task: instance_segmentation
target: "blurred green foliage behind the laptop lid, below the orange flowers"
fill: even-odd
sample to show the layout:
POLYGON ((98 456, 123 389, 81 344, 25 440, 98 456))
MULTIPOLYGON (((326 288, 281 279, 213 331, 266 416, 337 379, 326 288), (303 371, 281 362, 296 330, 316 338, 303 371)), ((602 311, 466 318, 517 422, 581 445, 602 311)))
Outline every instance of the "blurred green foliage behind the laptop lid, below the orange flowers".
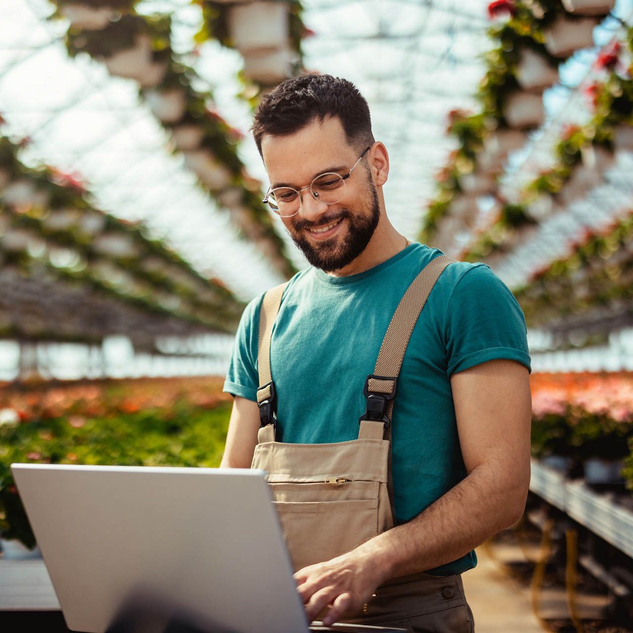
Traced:
POLYGON ((0 529, 8 539, 35 544, 9 470, 11 463, 218 467, 230 402, 206 410, 177 401, 171 410, 76 418, 0 427, 0 529), (74 425, 73 425, 74 424, 74 425))

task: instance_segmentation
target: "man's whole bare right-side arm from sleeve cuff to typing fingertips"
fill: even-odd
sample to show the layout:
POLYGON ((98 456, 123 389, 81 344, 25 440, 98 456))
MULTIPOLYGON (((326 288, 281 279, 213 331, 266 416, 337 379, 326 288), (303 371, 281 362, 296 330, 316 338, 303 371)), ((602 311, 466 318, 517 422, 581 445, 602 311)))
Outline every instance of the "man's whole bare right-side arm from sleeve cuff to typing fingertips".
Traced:
POLYGON ((456 560, 515 523, 530 483, 532 398, 526 367, 498 359, 451 376, 468 475, 410 522, 295 574, 310 618, 326 624, 360 608, 375 588, 456 560))

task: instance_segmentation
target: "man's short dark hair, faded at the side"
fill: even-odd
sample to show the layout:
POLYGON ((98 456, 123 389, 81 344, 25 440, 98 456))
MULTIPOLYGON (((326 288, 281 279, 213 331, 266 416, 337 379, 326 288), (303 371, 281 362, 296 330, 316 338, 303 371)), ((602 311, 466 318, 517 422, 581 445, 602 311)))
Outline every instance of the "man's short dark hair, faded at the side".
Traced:
POLYGON ((373 143, 369 106, 358 88, 332 75, 300 75, 280 83, 261 98, 251 131, 261 154, 265 134, 292 134, 326 116, 338 116, 348 144, 359 151, 373 143))

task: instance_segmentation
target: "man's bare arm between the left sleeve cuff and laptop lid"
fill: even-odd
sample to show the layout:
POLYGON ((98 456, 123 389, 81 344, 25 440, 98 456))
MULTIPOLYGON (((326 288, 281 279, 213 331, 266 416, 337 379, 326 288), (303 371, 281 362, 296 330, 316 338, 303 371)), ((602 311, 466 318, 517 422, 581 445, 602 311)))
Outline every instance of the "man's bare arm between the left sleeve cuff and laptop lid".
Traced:
POLYGON ((257 403, 235 396, 221 468, 251 467, 259 428, 260 410, 257 403))

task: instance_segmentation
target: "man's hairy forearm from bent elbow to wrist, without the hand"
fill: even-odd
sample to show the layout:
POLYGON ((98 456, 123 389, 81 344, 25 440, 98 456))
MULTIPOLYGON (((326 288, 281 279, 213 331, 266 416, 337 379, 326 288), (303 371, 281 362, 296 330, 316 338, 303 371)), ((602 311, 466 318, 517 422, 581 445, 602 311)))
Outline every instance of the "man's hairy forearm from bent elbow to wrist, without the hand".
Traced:
POLYGON ((464 556, 515 523, 527 486, 482 465, 410 522, 382 532, 359 548, 384 569, 385 579, 438 567, 464 556))

